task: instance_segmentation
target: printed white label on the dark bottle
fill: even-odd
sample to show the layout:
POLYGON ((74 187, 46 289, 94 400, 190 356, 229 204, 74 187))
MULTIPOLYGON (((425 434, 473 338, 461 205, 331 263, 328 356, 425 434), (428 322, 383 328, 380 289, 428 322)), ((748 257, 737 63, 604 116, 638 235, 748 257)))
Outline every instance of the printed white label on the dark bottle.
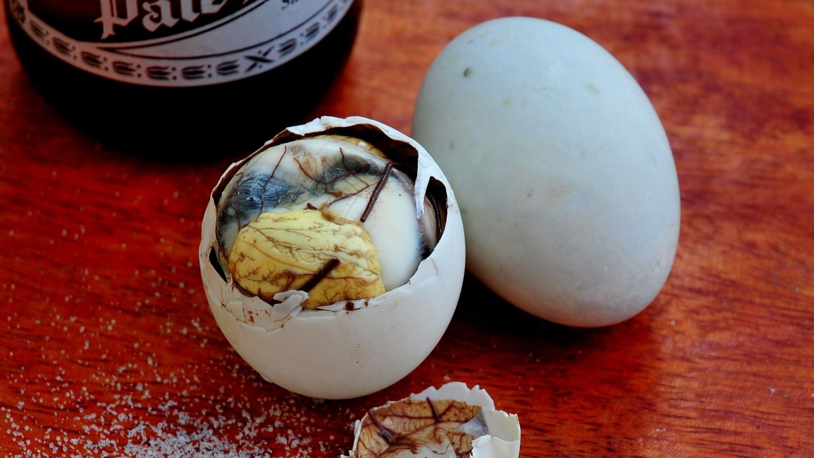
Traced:
POLYGON ((86 72, 144 86, 204 86, 267 72, 322 40, 352 3, 9 1, 20 29, 50 54, 86 72))

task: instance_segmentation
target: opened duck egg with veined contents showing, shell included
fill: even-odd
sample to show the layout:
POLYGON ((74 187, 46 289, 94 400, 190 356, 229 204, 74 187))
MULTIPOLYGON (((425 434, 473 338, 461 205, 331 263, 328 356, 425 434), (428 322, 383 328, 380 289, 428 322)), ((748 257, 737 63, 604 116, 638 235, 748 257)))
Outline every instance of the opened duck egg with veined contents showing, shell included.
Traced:
POLYGON ((400 380, 452 318, 464 270, 447 179, 361 117, 290 127, 230 166, 199 250, 212 314, 262 377, 353 398, 400 380))

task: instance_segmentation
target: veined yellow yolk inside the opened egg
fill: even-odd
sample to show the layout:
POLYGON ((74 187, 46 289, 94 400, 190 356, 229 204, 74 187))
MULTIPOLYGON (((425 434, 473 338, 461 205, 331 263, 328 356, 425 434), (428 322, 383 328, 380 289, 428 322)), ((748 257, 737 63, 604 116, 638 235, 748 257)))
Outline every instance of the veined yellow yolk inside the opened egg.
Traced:
POLYGON ((305 289, 305 309, 385 292, 379 258, 360 222, 320 209, 259 214, 229 255, 232 278, 266 301, 305 289))

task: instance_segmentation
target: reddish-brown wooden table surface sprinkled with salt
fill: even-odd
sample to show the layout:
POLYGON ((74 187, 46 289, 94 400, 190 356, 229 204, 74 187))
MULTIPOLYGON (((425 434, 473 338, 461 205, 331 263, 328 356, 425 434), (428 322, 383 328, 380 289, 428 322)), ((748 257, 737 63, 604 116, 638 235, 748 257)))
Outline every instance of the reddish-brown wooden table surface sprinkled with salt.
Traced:
POLYGON ((105 148, 33 90, 0 28, 2 455, 338 456, 367 408, 464 381, 519 414, 522 456, 814 456, 814 3, 368 0, 312 115, 409 134, 435 55, 505 15, 589 35, 652 99, 681 186, 672 274, 597 329, 467 279, 429 358, 347 401, 262 381, 209 313, 200 221, 247 151, 167 164, 105 148))

